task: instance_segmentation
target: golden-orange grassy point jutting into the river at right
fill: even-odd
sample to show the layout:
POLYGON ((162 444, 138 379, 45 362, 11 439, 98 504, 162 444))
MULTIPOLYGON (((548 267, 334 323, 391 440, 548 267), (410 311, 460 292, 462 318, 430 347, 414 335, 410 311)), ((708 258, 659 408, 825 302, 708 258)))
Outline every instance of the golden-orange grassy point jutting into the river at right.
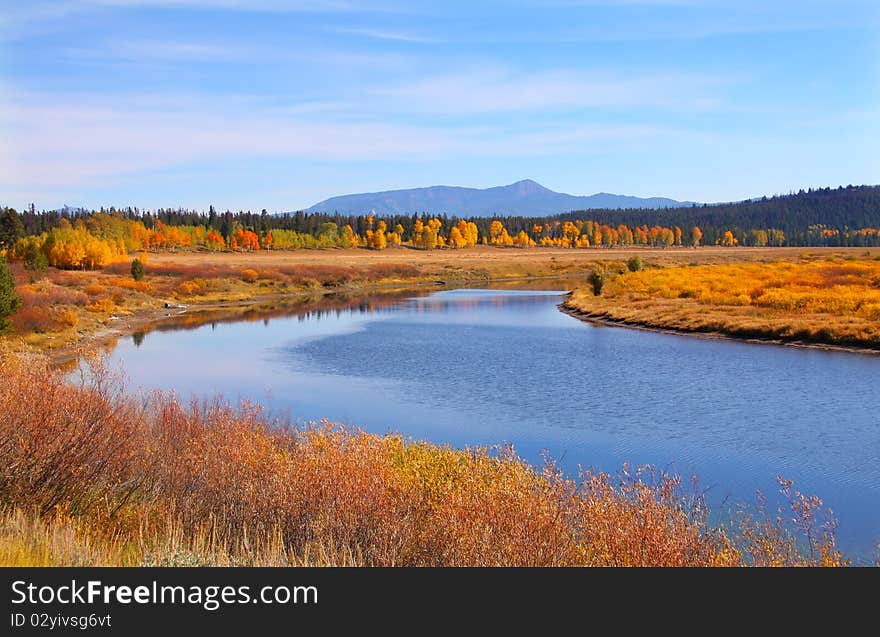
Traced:
POLYGON ((685 332, 880 348, 880 260, 668 267, 614 276, 602 294, 576 290, 588 317, 685 332))

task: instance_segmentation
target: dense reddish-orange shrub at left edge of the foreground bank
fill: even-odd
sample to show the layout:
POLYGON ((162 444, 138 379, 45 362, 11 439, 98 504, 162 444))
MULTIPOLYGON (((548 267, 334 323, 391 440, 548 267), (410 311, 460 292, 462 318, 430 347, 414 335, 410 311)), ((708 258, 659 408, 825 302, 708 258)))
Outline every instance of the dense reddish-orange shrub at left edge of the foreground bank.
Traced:
POLYGON ((85 513, 124 494, 122 485, 133 479, 139 459, 138 420, 119 399, 118 385, 67 385, 43 361, 5 352, 0 376, 3 504, 21 503, 44 514, 58 508, 85 513), (16 444, 8 444, 12 440, 16 444))

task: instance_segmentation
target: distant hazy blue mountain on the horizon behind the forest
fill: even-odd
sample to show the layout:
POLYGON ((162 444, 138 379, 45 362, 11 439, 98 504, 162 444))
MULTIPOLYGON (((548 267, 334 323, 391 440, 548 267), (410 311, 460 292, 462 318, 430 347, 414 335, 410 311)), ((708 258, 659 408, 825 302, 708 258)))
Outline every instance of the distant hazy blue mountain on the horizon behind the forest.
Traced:
POLYGON ((509 186, 494 188, 461 188, 458 186, 431 186, 408 190, 386 190, 358 195, 341 195, 325 199, 305 212, 340 214, 429 214, 446 213, 457 216, 548 215, 569 210, 591 208, 679 208, 690 206, 689 201, 675 201, 664 197, 629 197, 600 192, 579 196, 554 192, 536 181, 523 179, 509 186))

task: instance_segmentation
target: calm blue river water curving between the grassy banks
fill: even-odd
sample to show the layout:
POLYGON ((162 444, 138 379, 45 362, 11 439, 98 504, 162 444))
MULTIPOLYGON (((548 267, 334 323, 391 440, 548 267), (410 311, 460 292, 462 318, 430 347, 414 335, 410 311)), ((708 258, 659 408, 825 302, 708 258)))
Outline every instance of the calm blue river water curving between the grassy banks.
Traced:
POLYGON ((112 356, 139 387, 456 446, 506 441, 570 470, 649 463, 696 473, 716 502, 774 493, 781 474, 834 509, 849 555, 873 555, 880 357, 594 327, 559 312, 560 295, 443 291, 152 332, 112 356))

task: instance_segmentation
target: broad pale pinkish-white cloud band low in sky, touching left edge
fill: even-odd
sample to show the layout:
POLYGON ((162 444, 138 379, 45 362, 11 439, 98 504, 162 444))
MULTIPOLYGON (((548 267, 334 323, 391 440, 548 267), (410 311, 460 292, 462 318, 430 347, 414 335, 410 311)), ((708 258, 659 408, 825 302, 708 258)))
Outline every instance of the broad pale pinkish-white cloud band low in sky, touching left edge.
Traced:
POLYGON ((140 105, 76 99, 52 105, 44 96, 21 96, 0 108, 7 154, 0 184, 18 188, 72 188, 232 157, 322 160, 435 160, 458 156, 540 155, 585 141, 621 143, 678 134, 645 125, 440 128, 381 121, 339 123, 318 114, 279 116, 258 100, 227 104, 180 99, 140 105), (12 149, 12 150, 10 150, 12 149))

